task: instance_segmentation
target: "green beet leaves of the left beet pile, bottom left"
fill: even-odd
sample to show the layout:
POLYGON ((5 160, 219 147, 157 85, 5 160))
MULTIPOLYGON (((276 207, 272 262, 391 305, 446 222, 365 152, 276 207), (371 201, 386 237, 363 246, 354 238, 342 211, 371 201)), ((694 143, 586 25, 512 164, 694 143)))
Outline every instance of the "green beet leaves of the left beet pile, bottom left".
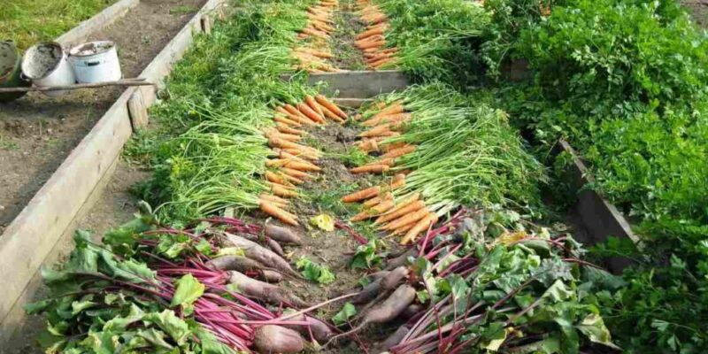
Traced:
MULTIPOLYGON (((30 314, 46 315, 39 342, 47 352, 235 353, 193 319, 166 309, 158 296, 146 296, 159 291, 148 266, 90 242, 86 232, 77 232, 74 242, 61 269, 42 269, 49 297, 26 306, 30 314)), ((176 285, 172 305, 189 315, 184 310, 202 295, 204 285, 191 275, 176 285)))

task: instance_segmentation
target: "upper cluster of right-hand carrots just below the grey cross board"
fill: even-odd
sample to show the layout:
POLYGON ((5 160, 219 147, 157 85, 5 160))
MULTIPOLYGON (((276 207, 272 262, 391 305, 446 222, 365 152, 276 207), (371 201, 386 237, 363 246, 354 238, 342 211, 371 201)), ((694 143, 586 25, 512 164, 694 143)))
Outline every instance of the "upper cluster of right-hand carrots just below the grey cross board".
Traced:
POLYGON ((375 106, 380 111, 370 119, 361 122, 368 130, 359 134, 361 140, 358 149, 366 153, 381 151, 383 155, 372 163, 354 167, 351 173, 387 173, 396 165, 396 159, 415 151, 415 145, 405 142, 388 143, 379 146, 379 142, 401 135, 400 130, 411 119, 411 113, 405 112, 404 104, 400 101, 391 104, 380 103, 375 106))

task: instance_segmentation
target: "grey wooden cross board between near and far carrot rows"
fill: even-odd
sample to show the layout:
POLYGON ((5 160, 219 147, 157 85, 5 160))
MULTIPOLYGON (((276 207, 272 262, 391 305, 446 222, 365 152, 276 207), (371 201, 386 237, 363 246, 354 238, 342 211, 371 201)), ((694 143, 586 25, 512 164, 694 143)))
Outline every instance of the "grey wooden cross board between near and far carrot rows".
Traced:
POLYGON ((321 92, 327 96, 345 98, 372 98, 404 90, 409 84, 404 73, 397 70, 311 73, 308 82, 312 86, 323 85, 321 92))

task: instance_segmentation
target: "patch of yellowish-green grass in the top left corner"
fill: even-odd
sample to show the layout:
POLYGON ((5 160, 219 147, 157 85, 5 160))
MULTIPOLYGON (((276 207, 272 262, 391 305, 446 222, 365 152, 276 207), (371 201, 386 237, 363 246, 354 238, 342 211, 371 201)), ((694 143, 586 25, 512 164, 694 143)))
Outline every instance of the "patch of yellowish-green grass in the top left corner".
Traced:
POLYGON ((50 41, 117 0, 0 0, 0 39, 20 50, 50 41))

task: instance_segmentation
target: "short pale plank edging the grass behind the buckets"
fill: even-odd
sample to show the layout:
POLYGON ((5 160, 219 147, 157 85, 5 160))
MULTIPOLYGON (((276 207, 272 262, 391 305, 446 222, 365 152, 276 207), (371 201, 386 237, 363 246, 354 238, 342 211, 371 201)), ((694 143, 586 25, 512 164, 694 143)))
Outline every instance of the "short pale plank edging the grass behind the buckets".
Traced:
POLYGON ((64 35, 60 35, 56 41, 65 47, 86 41, 94 32, 111 25, 138 4, 140 4, 140 0, 120 0, 116 4, 106 7, 102 12, 98 12, 92 18, 81 22, 64 35))

